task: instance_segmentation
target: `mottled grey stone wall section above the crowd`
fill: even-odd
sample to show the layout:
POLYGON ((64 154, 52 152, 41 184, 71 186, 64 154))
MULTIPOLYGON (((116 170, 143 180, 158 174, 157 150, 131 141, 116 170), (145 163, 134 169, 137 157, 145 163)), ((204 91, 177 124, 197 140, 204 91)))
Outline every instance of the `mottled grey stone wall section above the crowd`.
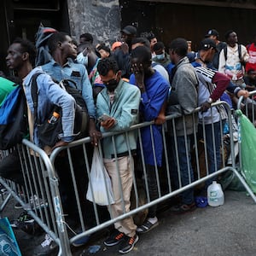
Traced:
POLYGON ((104 42, 112 44, 120 37, 119 0, 67 0, 70 31, 73 38, 90 32, 94 44, 104 42))

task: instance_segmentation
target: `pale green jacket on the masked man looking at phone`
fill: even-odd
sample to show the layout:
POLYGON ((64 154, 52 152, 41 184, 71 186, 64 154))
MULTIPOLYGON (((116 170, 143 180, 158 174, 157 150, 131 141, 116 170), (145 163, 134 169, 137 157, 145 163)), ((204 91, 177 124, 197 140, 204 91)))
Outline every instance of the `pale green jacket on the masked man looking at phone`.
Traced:
MULTIPOLYGON (((96 116, 101 117, 103 113, 116 119, 116 124, 108 131, 126 131, 138 123, 139 104, 141 93, 137 86, 126 83, 120 79, 117 88, 114 90, 113 104, 110 104, 107 88, 104 88, 96 99, 96 116)), ((101 127, 102 132, 106 132, 101 127)), ((112 137, 104 137, 103 154, 104 158, 114 158, 114 150, 118 156, 128 155, 128 149, 137 148, 137 131, 129 131, 115 135, 114 144, 112 137)))

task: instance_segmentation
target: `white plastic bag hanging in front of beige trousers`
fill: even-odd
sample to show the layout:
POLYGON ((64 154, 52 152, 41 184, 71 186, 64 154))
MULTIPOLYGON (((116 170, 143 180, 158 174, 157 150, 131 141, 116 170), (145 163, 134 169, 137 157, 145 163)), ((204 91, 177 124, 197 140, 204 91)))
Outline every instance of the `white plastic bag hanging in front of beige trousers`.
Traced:
POLYGON ((86 198, 89 201, 95 201, 100 206, 108 206, 114 203, 111 179, 102 163, 99 149, 96 147, 92 157, 86 198))

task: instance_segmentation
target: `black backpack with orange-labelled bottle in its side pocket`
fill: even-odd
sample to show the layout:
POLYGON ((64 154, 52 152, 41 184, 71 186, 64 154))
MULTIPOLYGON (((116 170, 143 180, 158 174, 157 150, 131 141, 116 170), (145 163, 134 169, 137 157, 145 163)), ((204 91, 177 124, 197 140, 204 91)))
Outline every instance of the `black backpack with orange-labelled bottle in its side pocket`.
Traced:
MULTIPOLYGON (((58 135, 62 133, 62 125, 61 125, 61 108, 58 106, 54 106, 51 113, 49 114, 49 118, 44 122, 44 124, 40 124, 38 122, 38 84, 37 78, 42 73, 35 73, 32 76, 32 101, 34 106, 34 122, 35 125, 38 126, 38 138, 41 143, 41 146, 48 145, 53 147, 55 143, 58 142, 58 135), (60 118, 56 119, 55 122, 50 123, 49 119, 53 116, 53 113, 56 112, 60 115, 60 118)), ((61 80, 59 83, 61 88, 67 90, 67 92, 73 96, 76 101, 76 110, 75 110, 75 120, 74 120, 74 134, 77 134, 76 139, 81 137, 86 137, 88 133, 88 122, 89 116, 86 107, 86 103, 84 102, 84 98, 81 94, 81 91, 76 87, 76 83, 72 80, 61 80), (70 84, 73 84, 71 86, 70 84)))

